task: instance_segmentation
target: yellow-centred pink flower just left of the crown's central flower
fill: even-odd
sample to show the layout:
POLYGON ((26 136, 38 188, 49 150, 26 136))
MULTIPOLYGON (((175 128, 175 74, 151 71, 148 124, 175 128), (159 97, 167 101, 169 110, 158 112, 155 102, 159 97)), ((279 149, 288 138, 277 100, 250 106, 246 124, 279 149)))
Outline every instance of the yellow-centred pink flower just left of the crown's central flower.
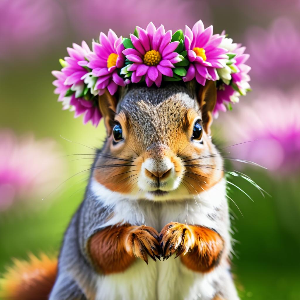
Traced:
POLYGON ((99 41, 100 44, 93 42, 93 52, 86 56, 89 60, 88 67, 92 69, 93 76, 99 77, 95 85, 99 95, 104 93, 105 88, 113 95, 118 85, 125 86, 129 82, 122 79, 117 72, 117 68, 122 68, 125 62, 122 36, 118 38, 110 29, 107 36, 100 33, 99 41))

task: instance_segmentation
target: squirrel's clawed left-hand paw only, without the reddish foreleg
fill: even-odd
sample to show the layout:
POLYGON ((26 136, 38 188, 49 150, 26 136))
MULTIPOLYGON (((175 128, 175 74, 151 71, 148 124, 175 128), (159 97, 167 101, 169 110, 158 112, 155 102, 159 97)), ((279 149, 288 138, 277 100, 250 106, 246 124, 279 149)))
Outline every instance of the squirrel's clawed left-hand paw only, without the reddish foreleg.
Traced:
POLYGON ((155 257, 160 260, 158 232, 149 226, 134 226, 134 228, 128 233, 126 249, 128 253, 143 259, 147 264, 147 254, 154 261, 156 261, 155 257))

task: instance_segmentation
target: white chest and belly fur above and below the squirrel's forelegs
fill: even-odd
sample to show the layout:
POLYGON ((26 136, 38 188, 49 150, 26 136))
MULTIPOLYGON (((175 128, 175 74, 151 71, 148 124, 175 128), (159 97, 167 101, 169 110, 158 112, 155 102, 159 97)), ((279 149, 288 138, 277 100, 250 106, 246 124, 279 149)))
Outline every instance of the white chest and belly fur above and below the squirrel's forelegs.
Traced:
MULTIPOLYGON (((167 203, 123 199, 122 195, 112 194, 97 182, 92 183, 92 189, 96 195, 101 195, 101 199, 105 199, 105 205, 115 205, 114 217, 103 226, 120 222, 146 224, 160 232, 172 221, 197 224, 219 232, 225 241, 226 251, 230 251, 225 181, 219 182, 193 200, 167 203), (226 211, 217 221, 209 217, 216 214, 216 208, 218 211, 226 211)), ((123 273, 98 276, 96 300, 208 300, 212 299, 215 293, 214 281, 218 281, 223 272, 224 266, 220 265, 208 274, 196 273, 188 270, 180 258, 174 259, 174 256, 161 262, 150 259, 148 265, 137 259, 123 273)))

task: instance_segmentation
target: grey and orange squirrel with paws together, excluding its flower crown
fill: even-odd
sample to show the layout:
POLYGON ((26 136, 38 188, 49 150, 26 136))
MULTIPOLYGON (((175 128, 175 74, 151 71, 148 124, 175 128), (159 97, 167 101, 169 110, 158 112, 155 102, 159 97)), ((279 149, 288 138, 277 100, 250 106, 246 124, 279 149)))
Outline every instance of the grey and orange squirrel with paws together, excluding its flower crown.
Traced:
POLYGON ((210 80, 99 96, 107 138, 58 271, 36 279, 47 292, 23 281, 10 299, 238 300, 223 160, 210 136, 215 102, 210 80))

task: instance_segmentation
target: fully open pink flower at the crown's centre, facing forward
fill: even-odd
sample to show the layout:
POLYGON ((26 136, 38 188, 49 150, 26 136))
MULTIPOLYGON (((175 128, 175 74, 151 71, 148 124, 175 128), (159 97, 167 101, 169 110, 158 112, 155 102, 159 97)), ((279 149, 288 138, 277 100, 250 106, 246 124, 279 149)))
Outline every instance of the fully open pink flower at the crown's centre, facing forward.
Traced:
POLYGON ((162 75, 173 77, 173 64, 181 61, 179 54, 174 52, 179 45, 178 41, 171 42, 171 30, 165 32, 161 25, 156 29, 150 22, 145 29, 137 27, 139 37, 130 35, 134 48, 123 50, 123 54, 129 61, 132 61, 127 70, 133 71, 131 81, 140 82, 145 76, 147 86, 153 82, 159 87, 161 85, 162 75))

